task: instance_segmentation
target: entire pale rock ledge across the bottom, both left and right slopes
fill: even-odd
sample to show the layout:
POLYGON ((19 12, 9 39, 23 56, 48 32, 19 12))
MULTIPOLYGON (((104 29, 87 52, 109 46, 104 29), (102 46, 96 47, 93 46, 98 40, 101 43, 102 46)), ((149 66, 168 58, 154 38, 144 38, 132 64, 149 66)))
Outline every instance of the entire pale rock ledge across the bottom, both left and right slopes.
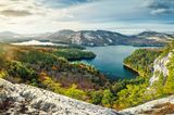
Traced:
POLYGON ((0 78, 0 115, 165 115, 174 114, 174 95, 120 112, 0 78))

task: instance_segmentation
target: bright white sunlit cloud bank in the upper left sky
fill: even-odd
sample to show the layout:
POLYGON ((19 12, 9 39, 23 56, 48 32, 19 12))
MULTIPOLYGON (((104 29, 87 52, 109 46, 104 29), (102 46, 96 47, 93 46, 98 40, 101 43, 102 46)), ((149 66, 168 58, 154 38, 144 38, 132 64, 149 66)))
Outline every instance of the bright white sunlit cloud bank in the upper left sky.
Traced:
POLYGON ((79 26, 77 22, 62 22, 63 18, 73 17, 66 9, 46 8, 36 0, 3 0, 0 4, 1 30, 41 33, 79 26))

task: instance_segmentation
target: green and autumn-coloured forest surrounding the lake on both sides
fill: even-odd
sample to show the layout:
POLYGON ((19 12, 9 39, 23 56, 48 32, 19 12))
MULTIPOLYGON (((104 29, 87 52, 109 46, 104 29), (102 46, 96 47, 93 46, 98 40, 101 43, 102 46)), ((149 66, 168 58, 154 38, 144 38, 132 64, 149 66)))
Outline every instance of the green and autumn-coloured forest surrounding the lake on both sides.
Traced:
MULTIPOLYGON (((169 64, 170 77, 165 87, 157 93, 146 93, 153 61, 166 54, 165 49, 139 49, 125 59, 124 64, 136 69, 135 79, 110 81, 105 75, 91 65, 69 60, 94 56, 78 48, 14 47, 0 44, 0 78, 11 82, 27 84, 70 98, 97 105, 122 110, 174 92, 173 63, 169 64)), ((173 59, 171 60, 172 62, 173 59)), ((163 81, 163 80, 160 80, 163 81)))

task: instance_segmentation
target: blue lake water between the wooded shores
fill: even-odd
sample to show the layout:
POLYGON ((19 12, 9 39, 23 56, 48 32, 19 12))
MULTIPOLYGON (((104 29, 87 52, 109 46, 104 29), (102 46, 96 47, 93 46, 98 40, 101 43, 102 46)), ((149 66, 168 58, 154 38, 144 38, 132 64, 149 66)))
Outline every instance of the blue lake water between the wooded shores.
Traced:
POLYGON ((96 59, 84 61, 100 69, 108 75, 110 79, 135 78, 137 74, 123 66, 123 60, 132 54, 138 47, 130 46, 109 46, 87 48, 97 54, 96 59))

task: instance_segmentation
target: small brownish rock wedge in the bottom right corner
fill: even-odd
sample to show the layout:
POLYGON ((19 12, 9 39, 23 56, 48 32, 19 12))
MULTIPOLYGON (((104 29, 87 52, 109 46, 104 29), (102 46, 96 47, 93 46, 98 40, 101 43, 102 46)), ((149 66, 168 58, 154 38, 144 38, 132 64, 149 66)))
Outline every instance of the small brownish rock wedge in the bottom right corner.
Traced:
POLYGON ((166 115, 174 114, 174 95, 153 100, 145 104, 126 108, 120 112, 122 115, 166 115))

